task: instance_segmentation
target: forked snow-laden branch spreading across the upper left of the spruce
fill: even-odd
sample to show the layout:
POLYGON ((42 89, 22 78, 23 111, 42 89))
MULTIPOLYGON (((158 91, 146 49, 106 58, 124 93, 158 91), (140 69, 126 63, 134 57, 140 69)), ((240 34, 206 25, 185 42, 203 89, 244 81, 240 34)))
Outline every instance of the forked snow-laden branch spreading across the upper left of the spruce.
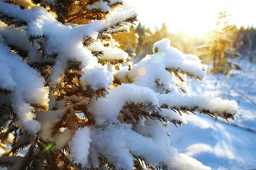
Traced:
MULTIPOLYGON (((93 20, 89 24, 74 28, 63 26, 55 20, 52 14, 42 7, 20 10, 18 6, 0 3, 0 14, 8 15, 15 21, 26 22, 27 36, 30 37, 30 40, 33 40, 33 37, 35 39, 42 36, 46 37, 46 42, 44 42, 41 49, 46 56, 54 56, 50 82, 52 87, 56 83, 61 82, 61 77, 68 66, 67 63, 75 61, 81 62, 79 67, 84 73, 81 80, 85 82, 86 86, 93 88, 93 90, 108 88, 112 83, 113 77, 105 67, 98 64, 96 57, 83 46, 82 42, 89 38, 96 40, 99 35, 108 30, 111 31, 121 27, 122 24, 136 20, 136 13, 132 8, 121 7, 111 11, 105 20, 93 20), (118 15, 118 13, 122 13, 122 15, 118 15), (99 77, 99 79, 87 79, 90 76, 99 77)), ((41 61, 41 58, 35 57, 30 57, 30 62, 37 62, 39 64, 40 62, 50 60, 47 58, 41 61)), ((123 59, 126 57, 123 57, 123 59)))

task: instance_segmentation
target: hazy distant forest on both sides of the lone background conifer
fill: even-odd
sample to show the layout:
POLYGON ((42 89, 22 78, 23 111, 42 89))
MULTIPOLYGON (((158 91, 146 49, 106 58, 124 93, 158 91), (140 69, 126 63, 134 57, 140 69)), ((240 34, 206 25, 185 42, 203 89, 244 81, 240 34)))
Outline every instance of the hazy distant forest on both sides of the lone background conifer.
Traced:
MULTIPOLYGON (((233 47, 249 58, 256 58, 256 28, 236 28, 233 32, 233 47)), ((152 54, 154 42, 169 38, 171 45, 183 51, 185 54, 199 55, 198 46, 207 44, 207 37, 189 36, 183 33, 170 33, 165 23, 162 28, 155 27, 154 32, 145 28, 141 23, 137 27, 131 26, 130 32, 123 32, 114 35, 113 38, 119 42, 120 48, 125 50, 130 56, 136 54, 137 60, 145 57, 146 54, 152 54), (133 54, 132 54, 133 53, 133 54)))

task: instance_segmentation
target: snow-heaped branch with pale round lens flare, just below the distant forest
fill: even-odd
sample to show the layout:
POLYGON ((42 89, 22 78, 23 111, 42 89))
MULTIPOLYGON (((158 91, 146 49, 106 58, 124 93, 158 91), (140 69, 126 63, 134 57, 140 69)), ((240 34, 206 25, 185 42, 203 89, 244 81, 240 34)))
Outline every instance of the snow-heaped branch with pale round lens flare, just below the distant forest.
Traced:
POLYGON ((133 82, 136 85, 169 93, 170 91, 187 91, 186 77, 202 80, 206 76, 207 65, 192 54, 183 54, 170 46, 169 39, 154 44, 154 54, 147 55, 139 63, 122 68, 114 74, 120 83, 133 82), (170 74, 171 73, 171 74, 170 74))

